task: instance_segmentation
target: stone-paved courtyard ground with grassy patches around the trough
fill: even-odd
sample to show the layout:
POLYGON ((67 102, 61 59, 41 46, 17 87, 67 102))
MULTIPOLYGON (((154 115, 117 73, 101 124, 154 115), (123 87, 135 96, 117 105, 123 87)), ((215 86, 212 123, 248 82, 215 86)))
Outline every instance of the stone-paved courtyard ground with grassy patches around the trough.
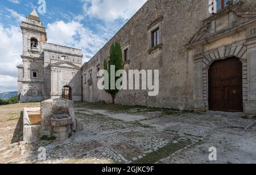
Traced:
POLYGON ((40 104, 0 106, 0 163, 256 163, 255 117, 76 103, 82 132, 26 143, 20 111, 31 106, 40 104), (210 147, 217 161, 209 161, 210 147))

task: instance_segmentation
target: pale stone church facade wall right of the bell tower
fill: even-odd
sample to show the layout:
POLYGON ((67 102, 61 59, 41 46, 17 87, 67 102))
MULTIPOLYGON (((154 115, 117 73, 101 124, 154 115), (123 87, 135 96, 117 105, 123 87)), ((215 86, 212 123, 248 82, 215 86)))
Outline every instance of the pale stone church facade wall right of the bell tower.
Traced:
POLYGON ((45 43, 43 48, 46 97, 59 98, 63 87, 69 86, 72 89, 72 100, 82 101, 82 51, 49 43, 45 43))

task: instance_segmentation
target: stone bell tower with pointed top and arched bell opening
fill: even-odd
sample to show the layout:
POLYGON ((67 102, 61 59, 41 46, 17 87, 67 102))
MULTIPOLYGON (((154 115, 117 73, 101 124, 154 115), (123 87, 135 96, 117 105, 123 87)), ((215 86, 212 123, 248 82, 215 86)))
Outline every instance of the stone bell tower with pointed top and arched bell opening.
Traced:
POLYGON ((33 10, 22 22, 23 64, 18 68, 18 93, 20 102, 42 101, 44 94, 43 44, 47 41, 46 29, 33 10))

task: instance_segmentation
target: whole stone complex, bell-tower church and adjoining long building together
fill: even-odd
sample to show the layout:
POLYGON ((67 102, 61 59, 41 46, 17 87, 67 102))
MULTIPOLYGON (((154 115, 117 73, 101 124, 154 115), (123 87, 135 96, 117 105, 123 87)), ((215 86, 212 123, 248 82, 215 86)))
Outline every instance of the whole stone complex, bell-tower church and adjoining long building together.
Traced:
POLYGON ((159 70, 159 93, 121 90, 115 103, 256 114, 255 0, 148 0, 84 65, 81 50, 46 42, 35 12, 21 28, 22 102, 64 97, 112 103, 98 89, 97 74, 119 42, 126 71, 159 70))

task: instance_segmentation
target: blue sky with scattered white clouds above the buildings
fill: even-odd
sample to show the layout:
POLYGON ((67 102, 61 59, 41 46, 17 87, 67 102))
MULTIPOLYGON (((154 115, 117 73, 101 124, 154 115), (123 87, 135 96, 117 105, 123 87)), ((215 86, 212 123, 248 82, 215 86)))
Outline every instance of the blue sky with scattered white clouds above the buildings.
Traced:
MULTIPOLYGON (((147 0, 46 0, 39 14, 47 42, 82 49, 88 61, 147 0)), ((16 65, 22 63, 20 23, 39 0, 0 2, 0 93, 17 90, 16 65)))

